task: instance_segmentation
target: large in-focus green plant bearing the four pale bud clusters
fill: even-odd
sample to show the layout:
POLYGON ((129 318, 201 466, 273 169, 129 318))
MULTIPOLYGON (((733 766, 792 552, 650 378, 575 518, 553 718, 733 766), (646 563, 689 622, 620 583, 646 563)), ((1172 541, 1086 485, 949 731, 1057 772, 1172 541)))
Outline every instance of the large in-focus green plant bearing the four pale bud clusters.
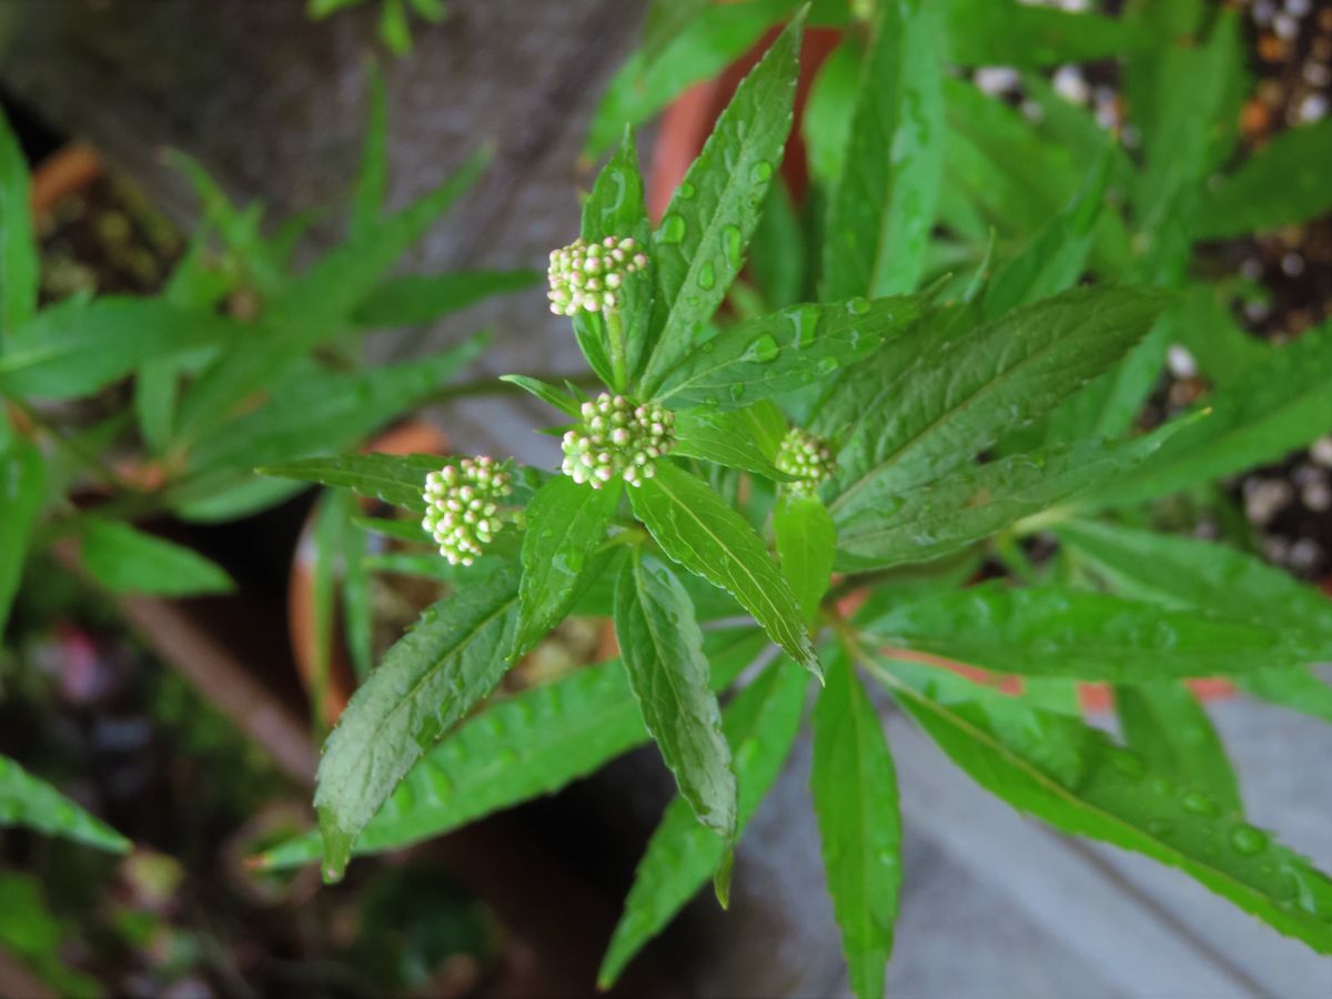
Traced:
MULTIPOLYGON (((691 7, 685 32, 759 11, 766 25, 795 4, 691 7)), ((1042 63, 1070 48, 1080 57, 1151 49, 1166 61, 1208 51, 1166 55, 1142 21, 996 7, 1034 43, 1010 55, 1042 63)), ((655 9, 669 17, 669 5, 655 9)), ((470 530, 485 519, 486 535, 466 535, 480 542, 466 550, 473 565, 422 569, 453 581, 452 594, 388 651, 329 737, 318 834, 266 852, 266 864, 322 856, 333 880, 353 852, 554 791, 650 739, 679 798, 611 939, 610 983, 710 876, 725 904, 734 843, 813 693, 829 888, 854 988, 879 995, 900 821, 867 678, 1015 807, 1180 867, 1332 952, 1332 880, 1245 821, 1220 742, 1183 685, 1228 677, 1332 719, 1328 687, 1308 670, 1328 654, 1332 611, 1243 551, 1142 529, 1155 515, 1146 501, 1205 489, 1327 430, 1332 329, 1256 352, 1207 406, 1139 433, 1131 417, 1159 353, 1143 345, 1168 342, 1163 324, 1189 321, 1191 296, 1162 277, 1188 262, 1180 216, 1136 202, 1130 238, 1104 205, 1107 178, 1124 165, 1099 133, 1086 143, 1086 170, 1047 170, 1048 147, 1011 129, 1007 111, 958 96, 942 72, 950 52, 978 59, 980 48, 988 59, 987 44, 1012 43, 972 32, 976 4, 876 11, 850 116, 836 148, 823 148, 834 165, 815 198, 826 205, 817 254, 799 240, 765 241, 783 210, 773 181, 802 12, 741 84, 655 228, 625 135, 583 206, 579 241, 551 254, 553 310, 571 317, 605 392, 509 377, 562 414, 551 430, 562 437, 559 474, 507 464, 481 484, 454 458, 377 454, 266 469, 401 507, 393 534, 422 553, 441 541, 429 537, 441 523, 470 530), (954 99, 970 101, 966 123, 950 117, 954 99), (959 201, 956 174, 939 165, 952 163, 944 145, 964 125, 1002 132, 992 152, 1007 151, 1008 173, 1031 170, 1035 184, 1004 186, 1022 177, 986 157, 959 201), (1055 213, 1048 224, 1018 218, 1011 229, 1023 238, 987 237, 972 276, 930 282, 931 261, 963 228, 950 218, 1038 197, 1042 218, 1055 213), (597 244, 622 256, 589 266, 597 244), (783 249, 805 264, 777 261, 783 249), (817 301, 754 308, 777 296, 733 286, 749 250, 757 280, 794 272, 790 285, 817 289, 817 301), (1084 274, 1099 280, 1074 286, 1084 274), (734 308, 719 313, 729 289, 734 308), (1047 551, 1035 553, 1038 538, 1047 551), (1008 578, 972 585, 987 558, 1008 578), (619 658, 490 698, 567 614, 614 618, 619 658), (1023 690, 1002 694, 958 665, 1015 674, 1023 690), (1075 681, 1115 685, 1123 741, 1082 721, 1075 681)), ((1196 176, 1167 172, 1164 204, 1189 202, 1196 176)), ((453 534, 442 541, 457 554, 453 534)))

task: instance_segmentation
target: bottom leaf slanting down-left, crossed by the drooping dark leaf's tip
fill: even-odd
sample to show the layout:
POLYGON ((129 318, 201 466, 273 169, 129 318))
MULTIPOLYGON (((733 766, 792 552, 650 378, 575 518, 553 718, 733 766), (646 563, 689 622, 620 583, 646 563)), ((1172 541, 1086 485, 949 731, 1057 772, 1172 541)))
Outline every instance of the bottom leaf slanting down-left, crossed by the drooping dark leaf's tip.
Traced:
MULTIPOLYGON (((806 686, 807 677, 781 659, 737 694, 723 713, 726 739, 735 759, 739 830, 777 781, 791 751, 806 686)), ((599 987, 610 987, 642 946, 698 892, 722 862, 726 847, 722 836, 698 825, 683 798, 671 802, 634 874, 625 914, 597 975, 599 987)))

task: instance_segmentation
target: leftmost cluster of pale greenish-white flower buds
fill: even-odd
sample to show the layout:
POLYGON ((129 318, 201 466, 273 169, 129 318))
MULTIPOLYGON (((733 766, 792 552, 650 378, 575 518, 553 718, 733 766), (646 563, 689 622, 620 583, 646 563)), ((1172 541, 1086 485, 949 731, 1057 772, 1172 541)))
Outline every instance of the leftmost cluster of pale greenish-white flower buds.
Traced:
POLYGON ((498 501, 513 480, 494 458, 464 458, 425 477, 425 519, 450 565, 472 565, 503 527, 498 501))

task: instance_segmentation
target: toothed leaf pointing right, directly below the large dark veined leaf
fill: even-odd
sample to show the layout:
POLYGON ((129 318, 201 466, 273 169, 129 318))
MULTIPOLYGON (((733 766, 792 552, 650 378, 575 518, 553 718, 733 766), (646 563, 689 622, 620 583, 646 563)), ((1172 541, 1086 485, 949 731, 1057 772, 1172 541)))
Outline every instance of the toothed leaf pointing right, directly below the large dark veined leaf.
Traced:
POLYGON ((1163 440, 1166 434, 1158 430, 1122 445, 1083 441, 1012 454, 886 497, 878 507, 850 517, 834 511, 838 567, 928 562, 1094 488, 1099 497, 1163 440))

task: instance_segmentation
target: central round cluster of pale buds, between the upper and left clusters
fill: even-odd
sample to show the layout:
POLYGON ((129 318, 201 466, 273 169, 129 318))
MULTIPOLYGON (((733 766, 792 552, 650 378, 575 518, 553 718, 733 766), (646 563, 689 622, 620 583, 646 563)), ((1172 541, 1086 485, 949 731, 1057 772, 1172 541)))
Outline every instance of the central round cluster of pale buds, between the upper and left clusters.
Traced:
POLYGON ((602 393, 582 404, 582 418, 578 430, 565 434, 562 472, 593 489, 615 476, 641 486, 657 474, 654 461, 675 445, 675 414, 662 406, 602 393))

